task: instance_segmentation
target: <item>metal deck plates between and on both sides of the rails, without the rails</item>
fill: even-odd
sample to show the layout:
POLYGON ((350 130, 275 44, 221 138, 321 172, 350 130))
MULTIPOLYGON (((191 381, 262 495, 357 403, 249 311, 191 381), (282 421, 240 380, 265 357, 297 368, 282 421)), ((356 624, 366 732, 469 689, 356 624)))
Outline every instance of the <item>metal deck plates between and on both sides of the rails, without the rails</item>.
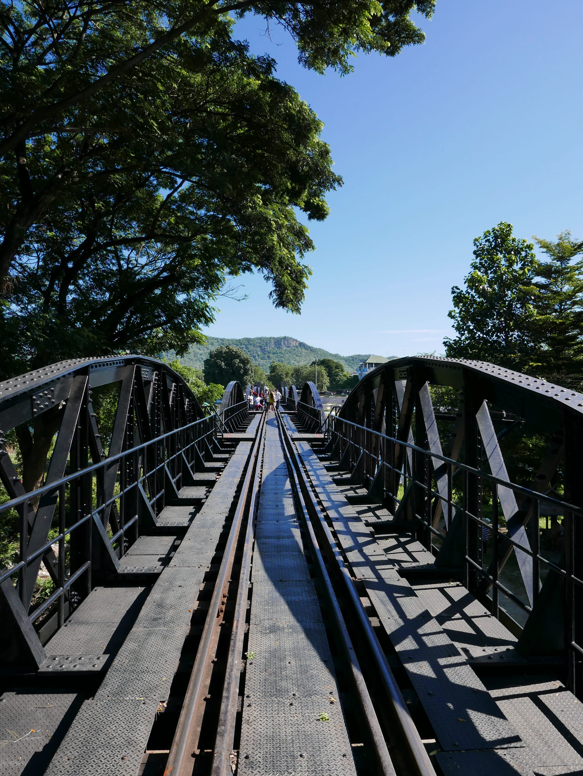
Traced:
MULTIPOLYGON (((228 459, 216 456, 182 487, 158 527, 122 557, 117 577, 95 587, 50 639, 40 670, 11 675, 0 697, 0 776, 163 772, 172 735, 161 745, 156 720, 172 719, 166 704, 184 695, 185 645, 192 657, 260 419, 245 435, 224 435, 228 459), (156 770, 147 753, 161 746, 156 770)), ((382 505, 363 503, 363 488, 311 447, 319 439, 307 440, 289 415, 283 422, 411 713, 430 731, 436 773, 583 773, 583 709, 553 663, 526 660, 462 584, 432 577, 432 554, 391 531, 382 505)), ((237 773, 367 774, 352 749, 353 711, 338 694, 338 650, 273 416, 261 467, 237 773)))

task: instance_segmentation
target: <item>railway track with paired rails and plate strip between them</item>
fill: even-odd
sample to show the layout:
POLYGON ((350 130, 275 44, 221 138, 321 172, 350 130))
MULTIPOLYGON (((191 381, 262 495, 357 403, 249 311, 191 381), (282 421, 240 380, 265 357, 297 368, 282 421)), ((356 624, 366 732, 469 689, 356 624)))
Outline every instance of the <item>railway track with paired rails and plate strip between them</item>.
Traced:
MULTIPOLYGON (((269 528, 274 527, 275 524, 269 525, 269 528)), ((277 542, 276 536, 268 539, 277 542)), ((279 547, 279 550, 284 549, 289 548, 279 547)), ((293 617, 293 614, 288 608, 288 616, 293 617)), ((296 636, 292 632, 291 641, 296 636)), ((304 639, 305 643, 302 643, 302 639, 295 639, 297 652, 294 657, 300 663, 300 671, 314 669, 310 665, 313 655, 310 654, 312 645, 309 640, 304 639)), ((317 637, 312 637, 312 641, 316 640, 317 637)), ((289 645, 284 645, 284 650, 286 646, 289 645)), ((324 657, 326 661, 330 659, 324 657)), ((337 750, 340 755, 334 771, 330 772, 435 776, 349 568, 321 514, 290 431, 279 414, 262 415, 224 543, 186 691, 182 697, 176 694, 168 698, 165 709, 154 722, 151 740, 156 740, 158 736, 157 726, 163 728, 165 725, 167 709, 178 706, 179 714, 177 717, 174 714, 176 724, 172 744, 168 751, 147 751, 141 767, 142 776, 154 773, 165 776, 320 773, 324 772, 321 767, 325 767, 321 761, 322 734, 329 739, 324 747, 325 757, 329 757, 328 750, 331 749, 337 750), (270 463, 274 458, 278 464, 276 468, 283 463, 285 474, 283 469, 279 469, 277 475, 272 476, 270 463), (279 481, 290 487, 279 488, 279 481), (274 482, 278 488, 275 493, 272 492, 274 482), (262 518, 262 515, 266 511, 279 514, 282 506, 279 502, 283 501, 290 509, 285 521, 276 518, 276 524, 283 526, 279 536, 285 544, 289 538, 286 527, 292 525, 292 533, 302 543, 301 548, 297 548, 300 552, 282 551, 277 569, 269 565, 265 569, 271 553, 269 542, 262 541, 262 525, 273 521, 262 518), (256 536, 258 525, 259 539, 256 536), (288 625, 287 629, 283 626, 279 633, 276 629, 262 632, 261 623, 253 616, 255 600, 261 597, 264 588, 272 587, 272 580, 277 577, 275 588, 279 601, 273 611, 267 611, 267 615, 281 613, 280 605, 286 603, 283 601, 285 594, 294 586, 294 580, 286 582, 286 577, 297 577, 297 570, 292 569, 290 574, 290 567, 300 559, 300 553, 302 559, 308 561, 308 576, 305 580, 295 580, 295 584, 313 589, 320 617, 314 618, 312 612, 308 612, 302 618, 296 612, 296 622, 288 625), (267 587, 262 587, 258 568, 263 577, 265 570, 267 576, 272 577, 267 587), (250 736, 249 728, 253 722, 250 725, 245 719, 248 709, 253 708, 249 699, 266 706, 279 702, 280 708, 290 709, 301 705, 301 696, 311 691, 305 687, 295 687, 294 691, 293 682, 297 675, 290 672, 286 676, 286 671, 282 670, 286 661, 278 663, 276 659, 275 663, 273 660, 269 663, 268 659, 269 667, 265 669, 269 674, 268 681, 259 682, 263 684, 265 697, 256 697, 257 687, 254 685, 257 681, 250 674, 254 665, 262 661, 259 650, 268 648, 268 642, 273 639, 278 644, 279 639, 290 637, 290 631, 297 623, 304 632, 318 627, 318 619, 322 626, 321 636, 328 641, 331 659, 331 664, 321 663, 321 669, 328 677, 335 677, 334 680, 325 680, 328 681, 326 687, 332 686, 331 682, 335 687, 327 691, 329 697, 325 698, 325 705, 322 698, 318 699, 321 712, 312 715, 312 719, 301 715, 295 720, 288 719, 290 728, 283 731, 277 729, 281 720, 275 713, 271 725, 269 719, 264 720, 259 736, 253 733, 250 736), (253 649, 249 647, 250 638, 253 649), (257 647, 258 643, 262 647, 257 647), (274 692, 280 696, 275 703, 271 697, 274 692), (284 695, 287 697, 283 698, 284 695), (331 707, 337 719, 328 728, 331 707), (294 740, 294 725, 297 726, 295 733, 300 737, 302 728, 304 733, 307 732, 301 743, 294 740), (249 753, 250 743, 254 751, 249 753), (342 748, 344 751, 340 751, 342 748), (296 762, 290 762, 290 759, 296 762)), ((318 708, 314 710, 318 711, 318 708)), ((166 739, 168 733, 168 730, 164 733, 166 739)))

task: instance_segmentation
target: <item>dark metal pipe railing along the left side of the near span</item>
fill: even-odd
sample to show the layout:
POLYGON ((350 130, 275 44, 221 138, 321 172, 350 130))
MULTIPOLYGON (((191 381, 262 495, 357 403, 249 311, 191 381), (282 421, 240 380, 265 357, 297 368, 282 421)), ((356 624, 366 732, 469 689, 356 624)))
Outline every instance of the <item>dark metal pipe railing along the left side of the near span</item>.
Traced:
MULTIPOLYGON (((170 495, 168 486, 170 485, 172 490, 179 490, 185 460, 194 468, 198 448, 212 442, 216 434, 215 421, 215 417, 204 417, 182 428, 168 431, 149 442, 136 445, 116 456, 111 456, 101 463, 86 466, 54 483, 0 504, 0 521, 12 509, 18 512, 20 539, 19 562, 0 573, 0 584, 6 580, 12 580, 13 583, 16 579, 16 589, 23 606, 29 599, 26 570, 35 560, 45 556, 55 546, 58 548, 57 590, 43 601, 42 605, 33 609, 28 615, 29 622, 35 622, 47 608, 57 603, 58 627, 61 627, 64 599, 68 589, 77 583, 78 590, 83 590, 85 594, 92 590, 92 559, 89 553, 85 559, 78 557, 71 561, 73 566, 67 573, 65 558, 68 545, 75 544, 78 533, 86 532, 90 521, 94 521, 98 526, 102 542, 111 548, 112 559, 115 554, 114 548, 118 549, 119 557, 123 556, 127 539, 134 542, 139 535, 138 523, 144 512, 150 513, 151 518, 155 518, 156 512, 163 508, 164 497, 170 495), (116 487, 112 497, 105 498, 104 483, 113 464, 120 467, 119 487, 116 487), (174 469, 175 477, 170 475, 170 469, 174 469), (89 494, 92 494, 92 497, 89 494), (57 535, 37 549, 29 548, 26 542, 28 533, 26 507, 29 507, 33 500, 39 501, 40 505, 54 503, 58 513, 57 535), (114 506, 118 514, 115 521, 117 530, 109 535, 103 529, 103 522, 106 518, 107 521, 112 520, 111 511, 114 506), (73 514, 75 514, 74 521, 72 521, 73 514), (83 581, 78 581, 82 578, 84 578, 83 581)), ((147 518, 143 517, 142 522, 147 524, 147 518)), ((91 545, 91 542, 87 543, 91 545)), ((92 554, 99 550, 98 547, 88 547, 88 549, 92 550, 92 554)))

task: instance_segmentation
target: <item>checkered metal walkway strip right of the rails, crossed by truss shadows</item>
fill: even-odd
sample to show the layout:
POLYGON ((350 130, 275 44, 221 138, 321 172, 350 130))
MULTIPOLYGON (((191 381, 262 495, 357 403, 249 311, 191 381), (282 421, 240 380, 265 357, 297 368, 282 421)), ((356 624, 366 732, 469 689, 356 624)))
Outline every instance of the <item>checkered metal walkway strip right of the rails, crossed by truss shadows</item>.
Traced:
POLYGON ((408 581, 398 576, 373 532, 362 521, 359 527, 356 512, 338 494, 314 451, 306 443, 297 446, 322 504, 328 504, 325 510, 338 540, 342 546, 352 542, 346 553, 352 570, 362 580, 442 750, 522 747, 515 729, 466 658, 432 618, 408 581))

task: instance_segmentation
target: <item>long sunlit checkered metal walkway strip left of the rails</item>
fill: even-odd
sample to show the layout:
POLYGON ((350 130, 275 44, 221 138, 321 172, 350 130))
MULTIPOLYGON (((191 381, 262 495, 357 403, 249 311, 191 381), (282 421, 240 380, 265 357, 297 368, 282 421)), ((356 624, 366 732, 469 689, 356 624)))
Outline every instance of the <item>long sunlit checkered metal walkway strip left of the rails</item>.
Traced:
POLYGON ((200 562, 182 566, 175 553, 162 571, 95 698, 85 702, 64 736, 47 776, 98 771, 99 776, 136 776, 250 449, 248 442, 238 445, 240 455, 227 463, 179 547, 182 553, 199 552, 200 562))

